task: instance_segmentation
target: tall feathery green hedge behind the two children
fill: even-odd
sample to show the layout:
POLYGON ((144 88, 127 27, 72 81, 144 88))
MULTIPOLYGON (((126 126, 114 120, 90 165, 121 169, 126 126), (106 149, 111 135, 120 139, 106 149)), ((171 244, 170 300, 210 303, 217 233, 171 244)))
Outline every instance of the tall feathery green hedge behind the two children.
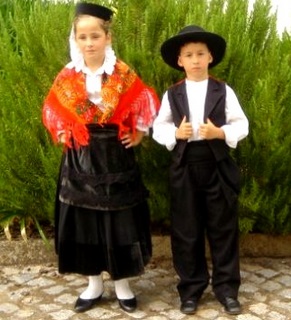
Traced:
MULTIPOLYGON (((94 2, 92 0, 92 2, 94 2)), ((109 1, 95 1, 108 5, 109 1)), ((160 97, 183 74, 161 59, 165 39, 188 24, 221 34, 227 53, 212 74, 237 93, 250 134, 233 156, 242 172, 241 232, 291 233, 291 40, 276 33, 268 0, 248 15, 246 0, 115 0, 117 55, 160 97)), ((74 4, 7 0, 0 4, 0 223, 53 223, 61 148, 41 122, 43 100, 69 61, 74 4)), ((146 138, 137 156, 150 190, 152 220, 168 224, 170 154, 146 138)))

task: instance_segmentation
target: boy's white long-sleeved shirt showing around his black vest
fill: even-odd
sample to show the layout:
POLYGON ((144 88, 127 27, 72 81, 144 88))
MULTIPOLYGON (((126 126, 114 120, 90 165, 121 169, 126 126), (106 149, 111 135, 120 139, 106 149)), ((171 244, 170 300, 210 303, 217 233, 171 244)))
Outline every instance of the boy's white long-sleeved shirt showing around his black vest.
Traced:
MULTIPOLYGON (((188 139, 188 142, 201 140, 198 129, 204 119, 207 86, 208 79, 199 82, 186 79, 186 93, 190 115, 189 121, 193 128, 193 135, 188 139)), ((226 124, 221 127, 225 134, 225 142, 229 147, 236 148, 238 141, 248 135, 249 122, 240 106, 236 94, 228 85, 226 85, 225 115, 226 124)), ((177 143, 175 137, 176 130, 177 127, 173 122, 168 99, 168 91, 166 91, 162 98, 159 114, 153 124, 153 138, 171 151, 177 143)))

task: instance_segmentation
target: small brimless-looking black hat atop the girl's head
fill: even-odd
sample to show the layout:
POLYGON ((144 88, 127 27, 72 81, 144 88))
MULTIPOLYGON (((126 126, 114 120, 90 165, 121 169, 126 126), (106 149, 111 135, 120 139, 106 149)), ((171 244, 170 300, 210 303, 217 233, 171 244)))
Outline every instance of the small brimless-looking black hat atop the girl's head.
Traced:
POLYGON ((109 21, 113 15, 113 11, 99 4, 79 2, 76 5, 75 16, 83 14, 109 21))

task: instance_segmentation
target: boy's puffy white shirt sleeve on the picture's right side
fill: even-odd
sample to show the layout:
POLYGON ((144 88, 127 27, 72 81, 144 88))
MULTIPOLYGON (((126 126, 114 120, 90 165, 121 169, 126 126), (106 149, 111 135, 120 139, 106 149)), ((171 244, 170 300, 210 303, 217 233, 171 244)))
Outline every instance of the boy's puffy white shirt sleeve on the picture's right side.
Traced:
POLYGON ((225 104, 226 124, 221 127, 225 134, 225 142, 231 148, 249 133, 249 122, 244 114, 236 94, 226 85, 225 104))

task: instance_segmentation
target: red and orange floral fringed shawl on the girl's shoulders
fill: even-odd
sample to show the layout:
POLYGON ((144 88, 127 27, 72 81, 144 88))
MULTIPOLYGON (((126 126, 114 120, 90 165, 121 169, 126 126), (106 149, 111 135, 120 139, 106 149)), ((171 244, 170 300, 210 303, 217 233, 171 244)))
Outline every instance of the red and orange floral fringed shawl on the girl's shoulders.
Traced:
MULTIPOLYGON (((87 145, 89 123, 117 124, 119 135, 135 133, 137 123, 151 126, 160 105, 155 91, 120 60, 112 75, 103 76, 101 97, 105 111, 88 99, 84 73, 74 68, 61 70, 43 107, 43 123, 53 140, 58 140, 60 132, 69 132, 77 145, 87 145)), ((68 147, 70 135, 66 135, 68 147)))

